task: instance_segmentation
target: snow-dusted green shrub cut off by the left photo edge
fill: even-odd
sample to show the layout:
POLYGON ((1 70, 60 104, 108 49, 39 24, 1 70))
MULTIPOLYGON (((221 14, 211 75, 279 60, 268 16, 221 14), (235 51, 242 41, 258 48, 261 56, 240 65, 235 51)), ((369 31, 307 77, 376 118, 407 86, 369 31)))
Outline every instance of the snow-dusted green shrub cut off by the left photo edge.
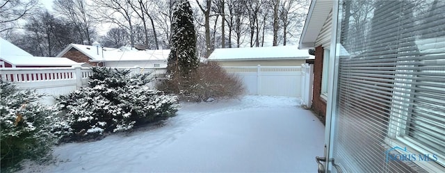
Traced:
POLYGON ((50 158, 51 146, 65 128, 56 108, 38 102, 41 97, 33 90, 18 90, 13 83, 0 80, 2 170, 16 167, 23 159, 50 158))

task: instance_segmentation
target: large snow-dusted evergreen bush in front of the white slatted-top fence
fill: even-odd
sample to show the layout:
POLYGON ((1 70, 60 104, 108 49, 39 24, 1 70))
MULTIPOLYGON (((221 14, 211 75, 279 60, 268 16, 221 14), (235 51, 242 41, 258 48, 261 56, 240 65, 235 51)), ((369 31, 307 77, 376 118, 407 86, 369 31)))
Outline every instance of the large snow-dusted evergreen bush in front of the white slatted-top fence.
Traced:
POLYGON ((88 140, 106 132, 165 120, 177 112, 177 97, 151 90, 148 74, 93 67, 88 87, 58 98, 71 126, 65 140, 88 140))

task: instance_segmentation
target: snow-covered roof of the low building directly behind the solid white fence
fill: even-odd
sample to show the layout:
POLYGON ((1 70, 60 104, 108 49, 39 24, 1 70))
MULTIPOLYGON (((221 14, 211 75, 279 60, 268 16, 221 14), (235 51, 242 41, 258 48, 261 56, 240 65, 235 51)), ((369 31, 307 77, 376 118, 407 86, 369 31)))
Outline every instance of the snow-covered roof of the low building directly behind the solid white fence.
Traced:
POLYGON ((247 47, 215 49, 209 60, 258 60, 258 59, 297 59, 309 58, 307 50, 298 46, 282 47, 247 47))

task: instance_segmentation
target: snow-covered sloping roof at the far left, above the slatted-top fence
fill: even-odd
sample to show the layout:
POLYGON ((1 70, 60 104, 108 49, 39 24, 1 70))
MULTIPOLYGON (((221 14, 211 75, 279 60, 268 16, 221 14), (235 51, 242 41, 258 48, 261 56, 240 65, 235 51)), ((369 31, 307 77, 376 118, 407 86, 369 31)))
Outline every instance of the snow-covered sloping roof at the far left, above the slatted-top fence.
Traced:
POLYGON ((81 65, 68 58, 33 56, 14 44, 0 38, 0 59, 12 65, 65 66, 81 65))

